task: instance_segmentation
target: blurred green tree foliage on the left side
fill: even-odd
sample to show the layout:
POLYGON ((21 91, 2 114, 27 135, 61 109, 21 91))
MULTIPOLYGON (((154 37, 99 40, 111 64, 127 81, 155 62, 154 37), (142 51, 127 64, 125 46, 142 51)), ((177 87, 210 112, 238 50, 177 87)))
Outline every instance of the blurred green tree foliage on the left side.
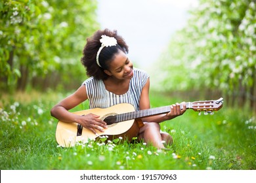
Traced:
POLYGON ((20 89, 74 78, 80 83, 85 75, 81 50, 98 28, 95 10, 91 0, 1 1, 0 87, 12 89, 18 78, 20 89))

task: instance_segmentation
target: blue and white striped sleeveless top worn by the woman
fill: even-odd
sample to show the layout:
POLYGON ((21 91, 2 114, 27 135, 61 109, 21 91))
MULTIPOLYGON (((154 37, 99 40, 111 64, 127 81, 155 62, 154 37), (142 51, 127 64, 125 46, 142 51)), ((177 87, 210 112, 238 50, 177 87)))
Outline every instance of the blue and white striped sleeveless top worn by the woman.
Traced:
POLYGON ((133 68, 129 89, 123 95, 109 92, 102 80, 96 80, 93 77, 85 80, 83 85, 86 88, 90 108, 108 108, 119 103, 131 103, 135 110, 139 110, 140 93, 148 78, 149 75, 145 71, 133 68))

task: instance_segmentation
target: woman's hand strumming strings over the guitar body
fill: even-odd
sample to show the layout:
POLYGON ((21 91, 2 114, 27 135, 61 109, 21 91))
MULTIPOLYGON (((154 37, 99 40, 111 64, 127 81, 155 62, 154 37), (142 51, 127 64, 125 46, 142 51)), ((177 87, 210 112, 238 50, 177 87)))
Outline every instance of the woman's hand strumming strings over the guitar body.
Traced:
POLYGON ((75 120, 77 124, 82 125, 83 127, 93 131, 97 135, 96 130, 104 132, 104 129, 107 129, 108 126, 106 122, 100 120, 100 116, 96 114, 87 114, 84 116, 77 116, 75 120))

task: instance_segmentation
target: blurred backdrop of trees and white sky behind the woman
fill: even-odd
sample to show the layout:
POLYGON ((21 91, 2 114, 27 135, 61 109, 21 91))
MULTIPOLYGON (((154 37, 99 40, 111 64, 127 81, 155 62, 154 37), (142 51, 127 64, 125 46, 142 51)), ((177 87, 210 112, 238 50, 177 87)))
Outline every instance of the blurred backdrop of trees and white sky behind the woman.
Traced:
POLYGON ((255 12, 255 0, 3 0, 0 97, 76 90, 86 39, 107 27, 153 91, 256 111, 255 12))

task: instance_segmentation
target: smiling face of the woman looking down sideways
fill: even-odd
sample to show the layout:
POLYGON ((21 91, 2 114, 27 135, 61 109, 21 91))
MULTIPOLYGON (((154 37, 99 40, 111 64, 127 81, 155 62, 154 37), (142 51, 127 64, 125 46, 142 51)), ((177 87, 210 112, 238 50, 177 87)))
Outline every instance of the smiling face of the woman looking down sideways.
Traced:
POLYGON ((133 63, 122 51, 117 52, 114 59, 109 63, 109 69, 104 72, 117 79, 131 79, 133 77, 133 63))

